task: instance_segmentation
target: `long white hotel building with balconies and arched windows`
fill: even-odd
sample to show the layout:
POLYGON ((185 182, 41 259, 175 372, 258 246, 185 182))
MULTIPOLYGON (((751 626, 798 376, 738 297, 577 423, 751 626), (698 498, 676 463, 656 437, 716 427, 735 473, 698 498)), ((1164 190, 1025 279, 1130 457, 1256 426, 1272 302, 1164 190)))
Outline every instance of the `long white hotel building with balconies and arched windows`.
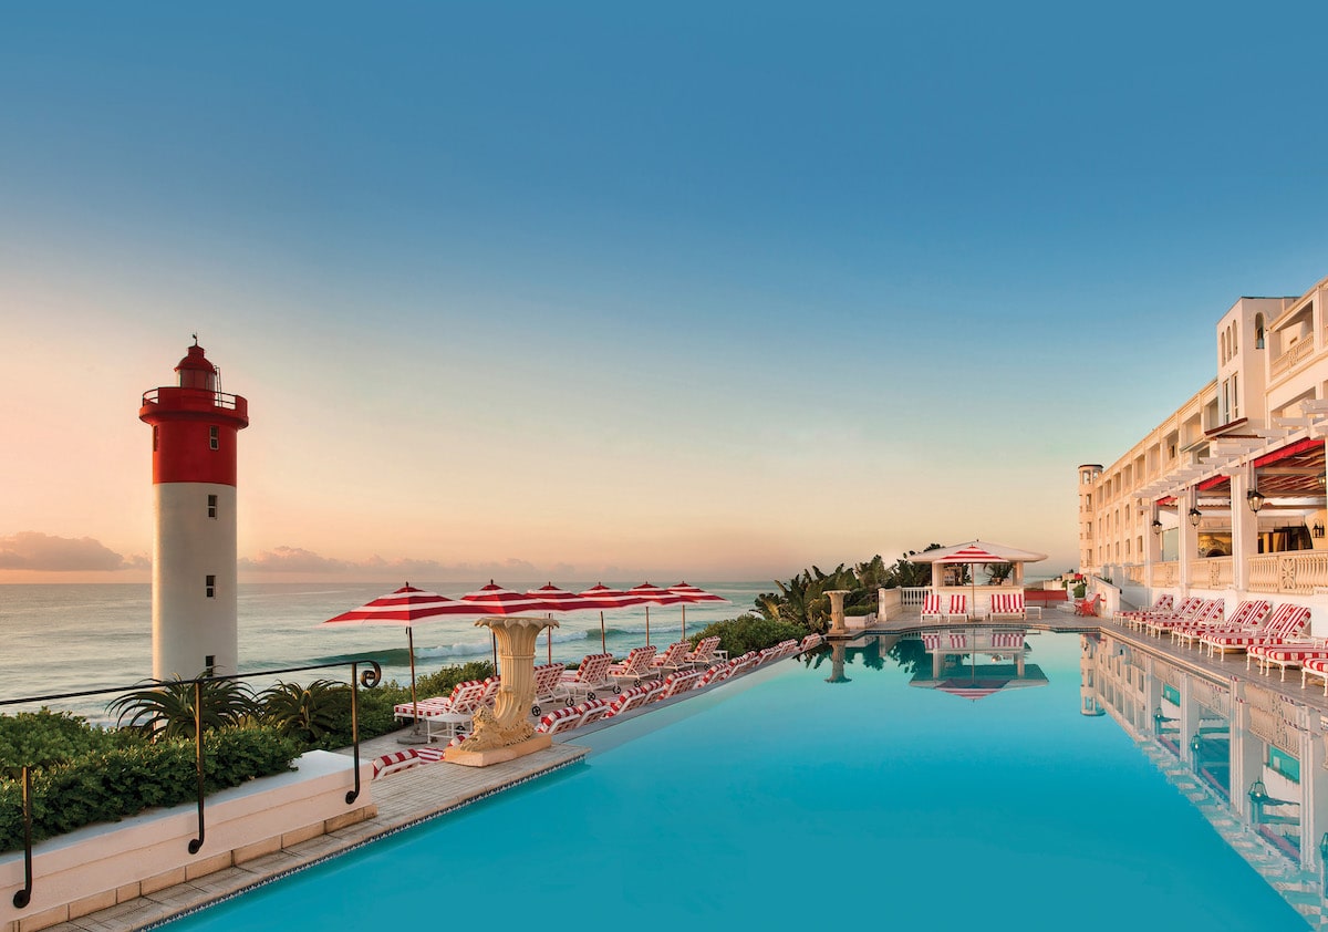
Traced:
POLYGON ((1242 297, 1216 377, 1110 466, 1080 466, 1080 568, 1114 600, 1224 596, 1313 611, 1328 635, 1328 279, 1242 297))

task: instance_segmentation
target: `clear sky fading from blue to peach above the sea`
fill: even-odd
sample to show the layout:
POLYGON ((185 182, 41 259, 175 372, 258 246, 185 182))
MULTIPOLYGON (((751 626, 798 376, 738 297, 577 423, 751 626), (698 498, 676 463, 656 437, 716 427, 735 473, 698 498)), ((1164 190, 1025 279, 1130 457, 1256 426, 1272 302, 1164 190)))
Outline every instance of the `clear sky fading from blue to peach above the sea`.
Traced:
POLYGON ((1321 3, 0 8, 0 583, 1076 564, 1080 463, 1328 275, 1321 3))

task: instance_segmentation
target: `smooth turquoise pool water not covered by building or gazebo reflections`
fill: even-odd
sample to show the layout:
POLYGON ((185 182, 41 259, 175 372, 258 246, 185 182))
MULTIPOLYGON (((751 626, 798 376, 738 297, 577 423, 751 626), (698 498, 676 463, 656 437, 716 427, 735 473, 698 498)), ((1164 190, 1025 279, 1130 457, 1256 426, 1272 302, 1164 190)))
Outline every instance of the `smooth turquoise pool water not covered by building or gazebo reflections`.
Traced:
POLYGON ((841 682, 830 655, 782 661, 165 928, 1305 929, 1112 718, 1081 714, 1080 637, 1028 643, 1045 684, 980 700, 910 688, 874 644, 841 682))

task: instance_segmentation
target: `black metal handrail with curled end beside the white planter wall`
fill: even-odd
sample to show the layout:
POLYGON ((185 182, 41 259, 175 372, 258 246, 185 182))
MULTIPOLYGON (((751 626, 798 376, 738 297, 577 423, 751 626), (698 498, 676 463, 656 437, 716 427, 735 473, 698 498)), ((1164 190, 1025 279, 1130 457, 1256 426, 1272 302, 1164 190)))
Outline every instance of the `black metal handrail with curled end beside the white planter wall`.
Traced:
MULTIPOLYGON (((244 680, 254 676, 272 676, 276 673, 303 673, 307 670, 324 670, 332 666, 351 665, 351 743, 353 747, 355 789, 345 794, 349 806, 360 797, 360 686, 369 689, 382 680, 382 668, 376 660, 351 660, 335 664, 312 664, 309 666, 286 666, 279 670, 256 670, 254 673, 232 673, 230 676, 205 676, 195 680, 166 681, 154 680, 155 685, 194 685, 194 767, 198 774, 198 838, 189 842, 189 852, 198 854, 203 847, 206 824, 203 819, 203 684, 223 680, 244 680), (360 672, 360 664, 368 664, 369 669, 360 672)), ((110 686, 108 689, 82 689, 73 693, 50 693, 48 696, 24 696, 15 700, 0 700, 0 708, 7 705, 25 705, 28 702, 52 702, 56 700, 82 698, 85 696, 113 696, 116 693, 129 693, 143 689, 138 682, 133 686, 110 686)), ((13 905, 17 909, 25 908, 32 901, 32 767, 23 765, 23 890, 13 895, 13 905)))

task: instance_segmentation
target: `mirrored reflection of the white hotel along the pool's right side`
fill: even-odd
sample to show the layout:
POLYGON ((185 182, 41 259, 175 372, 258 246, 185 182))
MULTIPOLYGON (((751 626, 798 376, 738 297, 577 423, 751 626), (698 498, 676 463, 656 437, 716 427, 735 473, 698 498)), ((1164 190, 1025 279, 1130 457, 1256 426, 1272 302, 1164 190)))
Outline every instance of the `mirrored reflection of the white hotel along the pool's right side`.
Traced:
POLYGON ((1323 717, 1242 678, 1198 676, 1081 635, 1081 712, 1109 716, 1297 912, 1328 928, 1323 717))

